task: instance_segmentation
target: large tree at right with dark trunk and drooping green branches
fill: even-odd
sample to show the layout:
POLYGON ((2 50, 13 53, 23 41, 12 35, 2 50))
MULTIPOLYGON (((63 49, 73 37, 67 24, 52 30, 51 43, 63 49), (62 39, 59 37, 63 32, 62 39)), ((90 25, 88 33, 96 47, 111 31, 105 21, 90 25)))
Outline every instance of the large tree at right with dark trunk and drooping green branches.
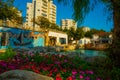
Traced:
MULTIPOLYGON (((82 22, 84 16, 91 9, 90 0, 58 0, 59 2, 72 2, 74 9, 74 19, 76 21, 82 22)), ((91 1, 93 4, 98 2, 103 2, 106 8, 112 12, 114 31, 113 31, 113 43, 112 43, 112 59, 115 61, 116 66, 120 67, 120 0, 95 0, 91 1)), ((92 7, 93 8, 93 7, 92 7)))

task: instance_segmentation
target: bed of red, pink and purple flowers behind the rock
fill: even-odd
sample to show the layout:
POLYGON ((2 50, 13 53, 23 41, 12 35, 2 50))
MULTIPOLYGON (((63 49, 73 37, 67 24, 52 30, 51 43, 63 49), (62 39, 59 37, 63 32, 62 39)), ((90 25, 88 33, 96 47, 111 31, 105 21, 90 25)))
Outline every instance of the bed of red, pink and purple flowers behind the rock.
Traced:
POLYGON ((15 69, 34 71, 55 80, 101 80, 79 57, 59 54, 17 53, 13 58, 0 60, 0 73, 15 69))

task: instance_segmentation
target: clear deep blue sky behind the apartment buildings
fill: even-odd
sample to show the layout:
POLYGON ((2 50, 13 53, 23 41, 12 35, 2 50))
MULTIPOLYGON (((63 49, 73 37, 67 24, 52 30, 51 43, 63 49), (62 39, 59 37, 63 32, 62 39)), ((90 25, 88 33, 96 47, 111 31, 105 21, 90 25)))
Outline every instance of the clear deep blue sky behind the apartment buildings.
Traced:
MULTIPOLYGON (((15 7, 22 11, 22 16, 26 16, 26 6, 27 2, 32 2, 32 0, 15 0, 15 7)), ((72 7, 54 2, 57 7, 57 20, 56 24, 60 26, 61 19, 72 19, 72 7)), ((95 29, 103 29, 105 31, 110 31, 113 28, 113 21, 107 20, 108 14, 105 13, 104 5, 99 3, 93 11, 90 11, 83 23, 79 26, 87 26, 95 29)))

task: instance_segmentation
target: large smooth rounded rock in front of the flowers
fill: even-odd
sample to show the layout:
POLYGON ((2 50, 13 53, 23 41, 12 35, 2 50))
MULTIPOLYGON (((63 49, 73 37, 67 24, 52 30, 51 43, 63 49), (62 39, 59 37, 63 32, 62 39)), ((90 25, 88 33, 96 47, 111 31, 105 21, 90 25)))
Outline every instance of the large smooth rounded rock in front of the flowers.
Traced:
POLYGON ((51 77, 40 75, 32 71, 11 70, 0 74, 0 80, 54 80, 51 77))

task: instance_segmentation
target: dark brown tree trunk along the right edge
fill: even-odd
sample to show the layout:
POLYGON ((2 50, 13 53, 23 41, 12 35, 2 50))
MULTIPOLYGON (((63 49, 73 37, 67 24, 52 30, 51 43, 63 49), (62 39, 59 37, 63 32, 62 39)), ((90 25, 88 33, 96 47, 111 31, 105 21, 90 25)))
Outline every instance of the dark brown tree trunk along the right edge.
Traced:
POLYGON ((120 6, 119 0, 111 0, 113 3, 113 21, 114 21, 114 32, 113 32, 113 44, 111 57, 115 61, 116 66, 120 66, 120 6))

